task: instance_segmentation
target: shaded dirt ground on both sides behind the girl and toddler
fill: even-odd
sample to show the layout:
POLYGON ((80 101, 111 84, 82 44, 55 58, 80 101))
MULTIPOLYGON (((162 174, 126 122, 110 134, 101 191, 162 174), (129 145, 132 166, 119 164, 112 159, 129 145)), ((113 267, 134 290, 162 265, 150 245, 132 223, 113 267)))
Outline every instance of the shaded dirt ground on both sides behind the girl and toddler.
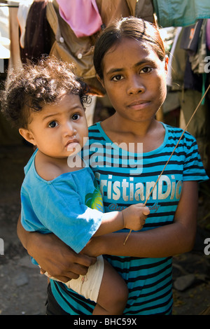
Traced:
MULTIPOLYGON (((0 238, 4 242, 4 254, 0 255, 1 315, 45 314, 46 278, 31 264, 16 235, 23 167, 32 151, 23 143, 0 146, 0 238)), ((210 255, 204 254, 204 239, 210 238, 210 188, 203 189, 195 248, 174 257, 174 315, 198 315, 210 306, 210 255)))

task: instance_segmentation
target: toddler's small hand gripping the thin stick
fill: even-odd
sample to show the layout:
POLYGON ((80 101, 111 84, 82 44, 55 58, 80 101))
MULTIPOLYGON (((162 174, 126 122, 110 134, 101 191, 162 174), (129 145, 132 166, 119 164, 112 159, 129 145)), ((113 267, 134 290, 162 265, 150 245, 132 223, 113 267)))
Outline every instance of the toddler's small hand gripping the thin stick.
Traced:
POLYGON ((125 228, 138 231, 141 230, 145 224, 150 210, 144 207, 144 204, 132 204, 122 211, 125 228))

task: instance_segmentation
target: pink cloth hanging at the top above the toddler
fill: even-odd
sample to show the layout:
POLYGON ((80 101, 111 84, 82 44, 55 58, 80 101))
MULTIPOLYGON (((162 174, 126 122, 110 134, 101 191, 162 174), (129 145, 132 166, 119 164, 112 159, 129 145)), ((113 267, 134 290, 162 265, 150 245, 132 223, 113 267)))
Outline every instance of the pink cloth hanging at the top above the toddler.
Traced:
POLYGON ((102 27, 96 0, 57 0, 59 14, 78 38, 92 36, 102 27))

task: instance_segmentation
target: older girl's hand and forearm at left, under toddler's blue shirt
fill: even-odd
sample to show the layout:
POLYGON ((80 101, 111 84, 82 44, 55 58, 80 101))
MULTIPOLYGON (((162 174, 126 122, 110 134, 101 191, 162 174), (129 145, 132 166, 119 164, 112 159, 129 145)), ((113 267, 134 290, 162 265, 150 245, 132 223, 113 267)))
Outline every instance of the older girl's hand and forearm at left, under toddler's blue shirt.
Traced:
POLYGON ((95 258, 75 253, 53 234, 42 235, 27 232, 18 220, 18 237, 31 257, 41 266, 43 272, 55 276, 60 281, 77 279, 85 275, 87 268, 94 264, 95 258))

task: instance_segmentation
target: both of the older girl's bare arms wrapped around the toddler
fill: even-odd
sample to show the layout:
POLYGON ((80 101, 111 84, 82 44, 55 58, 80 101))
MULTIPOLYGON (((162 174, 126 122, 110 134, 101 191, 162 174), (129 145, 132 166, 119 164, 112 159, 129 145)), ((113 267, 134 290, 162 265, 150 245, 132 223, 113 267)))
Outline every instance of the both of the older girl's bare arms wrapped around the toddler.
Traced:
MULTIPOLYGON (((94 237, 83 253, 91 256, 102 254, 133 257, 167 257, 185 253, 193 248, 197 227, 197 183, 184 182, 181 200, 174 216, 174 223, 144 232, 132 232, 124 246, 127 233, 112 233, 94 237)), ((27 232, 18 221, 18 237, 41 268, 61 281, 76 279, 85 274, 94 258, 76 254, 55 235, 27 232), (56 255, 56 258, 55 258, 56 255)))

